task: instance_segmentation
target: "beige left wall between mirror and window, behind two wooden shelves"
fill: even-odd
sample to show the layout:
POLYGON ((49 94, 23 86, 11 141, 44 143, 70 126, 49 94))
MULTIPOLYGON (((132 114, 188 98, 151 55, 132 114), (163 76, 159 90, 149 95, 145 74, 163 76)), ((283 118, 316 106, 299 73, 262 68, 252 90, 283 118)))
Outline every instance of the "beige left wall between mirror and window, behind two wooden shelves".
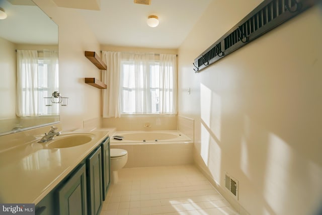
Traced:
POLYGON ((101 90, 85 84, 84 78, 98 78, 101 71, 84 51, 100 53, 100 45, 85 20, 73 9, 58 8, 50 0, 35 3, 59 26, 59 91, 69 97, 60 108, 63 130, 83 127, 83 121, 100 117, 101 90))

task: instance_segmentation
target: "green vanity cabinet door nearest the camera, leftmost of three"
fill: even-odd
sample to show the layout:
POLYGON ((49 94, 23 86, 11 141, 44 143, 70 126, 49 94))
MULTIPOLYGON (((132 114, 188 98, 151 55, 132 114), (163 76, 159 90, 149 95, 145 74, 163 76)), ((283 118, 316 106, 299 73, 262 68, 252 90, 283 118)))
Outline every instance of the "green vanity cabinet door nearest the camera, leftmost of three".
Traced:
POLYGON ((86 165, 79 167, 57 193, 60 215, 87 215, 86 165))

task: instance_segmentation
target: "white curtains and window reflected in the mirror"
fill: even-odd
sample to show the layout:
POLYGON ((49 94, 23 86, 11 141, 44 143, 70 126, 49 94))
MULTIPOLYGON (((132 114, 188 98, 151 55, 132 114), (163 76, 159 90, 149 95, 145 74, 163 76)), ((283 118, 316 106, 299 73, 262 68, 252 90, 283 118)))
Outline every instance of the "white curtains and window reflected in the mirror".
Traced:
POLYGON ((44 97, 58 91, 57 51, 17 50, 17 116, 58 115, 59 106, 45 106, 44 97))

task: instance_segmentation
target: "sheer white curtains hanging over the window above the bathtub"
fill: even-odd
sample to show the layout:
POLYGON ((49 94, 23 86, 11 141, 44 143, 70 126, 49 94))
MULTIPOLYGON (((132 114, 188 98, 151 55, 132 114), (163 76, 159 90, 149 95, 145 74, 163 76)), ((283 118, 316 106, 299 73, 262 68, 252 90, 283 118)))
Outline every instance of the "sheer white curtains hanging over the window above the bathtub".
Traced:
POLYGON ((103 117, 176 114, 176 55, 103 51, 103 117))

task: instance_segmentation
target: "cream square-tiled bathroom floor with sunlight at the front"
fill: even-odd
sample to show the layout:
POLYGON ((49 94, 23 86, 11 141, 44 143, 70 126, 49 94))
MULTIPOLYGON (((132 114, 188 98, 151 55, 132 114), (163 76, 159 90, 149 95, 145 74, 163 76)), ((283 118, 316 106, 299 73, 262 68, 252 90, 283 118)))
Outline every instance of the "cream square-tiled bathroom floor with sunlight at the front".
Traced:
POLYGON ((101 215, 237 214, 195 166, 129 168, 119 171, 101 215))

